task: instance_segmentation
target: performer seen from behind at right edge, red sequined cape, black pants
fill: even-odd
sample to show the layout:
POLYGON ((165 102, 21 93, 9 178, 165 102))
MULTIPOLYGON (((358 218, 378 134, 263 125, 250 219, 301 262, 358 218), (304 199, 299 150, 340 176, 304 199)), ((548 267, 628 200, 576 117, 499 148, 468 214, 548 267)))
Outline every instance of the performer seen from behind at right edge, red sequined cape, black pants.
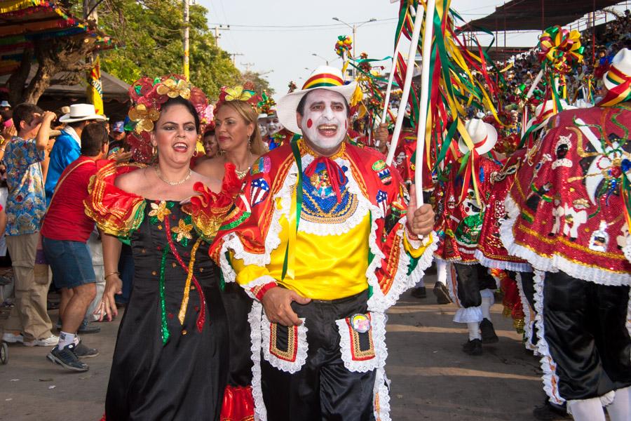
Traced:
POLYGON ((624 89, 611 89, 609 107, 552 117, 505 201, 503 244, 536 269, 544 389, 569 408, 592 398, 606 406, 631 386, 631 263, 623 253, 631 110, 620 103, 628 99, 624 89))

